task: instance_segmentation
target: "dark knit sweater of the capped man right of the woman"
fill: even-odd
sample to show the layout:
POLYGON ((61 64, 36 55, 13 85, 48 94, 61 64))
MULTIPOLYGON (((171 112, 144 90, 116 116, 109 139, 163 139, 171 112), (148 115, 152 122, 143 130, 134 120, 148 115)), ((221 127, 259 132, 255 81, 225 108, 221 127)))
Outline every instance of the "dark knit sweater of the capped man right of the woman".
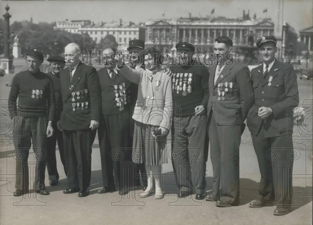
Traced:
MULTIPOLYGON (((198 105, 203 105, 206 110, 209 100, 209 71, 204 65, 194 65, 194 66, 182 66, 182 65, 172 65, 170 67, 173 76, 175 75, 175 80, 177 79, 177 73, 188 73, 192 74, 192 92, 187 93, 186 96, 182 95, 182 90, 177 94, 177 90, 173 90, 173 101, 175 102, 175 107, 179 107, 177 113, 174 116, 185 117, 195 115, 195 107, 198 105)), ((179 77, 180 78, 180 77, 179 77)), ((187 79, 189 76, 187 76, 187 79)), ((172 77, 173 79, 173 77, 172 77)), ((184 75, 182 76, 184 80, 184 75)), ((175 81, 173 82, 175 85, 175 81)), ((182 83, 183 84, 183 83, 182 83)), ((179 85, 179 80, 178 84, 179 85)), ((188 84, 186 82, 186 91, 188 84)), ((176 110, 174 110, 175 112, 176 110)))

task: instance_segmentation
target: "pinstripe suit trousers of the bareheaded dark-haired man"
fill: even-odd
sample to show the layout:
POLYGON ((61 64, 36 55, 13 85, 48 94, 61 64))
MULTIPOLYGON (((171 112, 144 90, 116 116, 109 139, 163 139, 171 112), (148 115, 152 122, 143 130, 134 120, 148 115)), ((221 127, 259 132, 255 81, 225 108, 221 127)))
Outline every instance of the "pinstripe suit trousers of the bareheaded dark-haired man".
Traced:
POLYGON ((213 167, 213 198, 237 205, 241 125, 218 125, 211 110, 208 118, 208 133, 213 167))

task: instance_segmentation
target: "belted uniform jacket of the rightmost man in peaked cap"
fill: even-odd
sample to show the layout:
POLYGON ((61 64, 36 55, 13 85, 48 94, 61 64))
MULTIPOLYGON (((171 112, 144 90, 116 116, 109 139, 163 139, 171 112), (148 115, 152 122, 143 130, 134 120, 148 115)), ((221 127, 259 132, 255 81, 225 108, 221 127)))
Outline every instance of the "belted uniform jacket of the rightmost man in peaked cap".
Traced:
POLYGON ((263 124, 265 137, 292 133, 292 109, 299 104, 299 93, 295 70, 289 64, 281 63, 277 59, 269 73, 263 78, 263 64, 251 70, 255 104, 249 110, 247 125, 250 132, 256 135, 263 124), (269 86, 269 78, 273 77, 269 86), (272 115, 262 120, 258 116, 259 107, 270 107, 272 115))

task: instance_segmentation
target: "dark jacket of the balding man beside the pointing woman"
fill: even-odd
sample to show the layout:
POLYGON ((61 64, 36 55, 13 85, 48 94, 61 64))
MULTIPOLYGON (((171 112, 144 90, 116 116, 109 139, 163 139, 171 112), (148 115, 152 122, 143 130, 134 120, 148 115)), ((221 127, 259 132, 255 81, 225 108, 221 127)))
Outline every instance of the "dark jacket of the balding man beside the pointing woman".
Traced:
MULTIPOLYGON (((101 100, 102 100, 102 114, 113 115, 127 110, 129 115, 131 115, 131 106, 135 106, 138 92, 138 84, 130 82, 126 77, 124 77, 120 71, 115 75, 114 80, 110 78, 108 70, 104 67, 98 71, 100 87, 101 87, 101 100), (125 83, 125 94, 126 94, 126 105, 124 105, 124 110, 120 111, 120 107, 116 105, 115 100, 115 88, 114 85, 122 85, 125 83), (134 86, 137 86, 136 93, 134 86), (135 96, 133 96, 135 95, 135 96)), ((119 86, 117 87, 119 91, 119 86)), ((119 95, 120 97, 120 95, 119 95)))

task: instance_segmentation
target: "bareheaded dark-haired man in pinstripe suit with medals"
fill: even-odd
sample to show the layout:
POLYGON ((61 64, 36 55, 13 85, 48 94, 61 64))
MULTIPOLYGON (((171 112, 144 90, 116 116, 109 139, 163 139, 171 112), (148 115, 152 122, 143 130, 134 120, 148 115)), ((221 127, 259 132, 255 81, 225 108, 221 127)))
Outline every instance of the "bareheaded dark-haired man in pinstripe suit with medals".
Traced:
POLYGON ((214 192, 205 199, 229 207, 239 203, 239 146, 253 90, 248 67, 231 57, 233 41, 220 36, 213 49, 217 64, 209 68, 208 134, 214 192))

